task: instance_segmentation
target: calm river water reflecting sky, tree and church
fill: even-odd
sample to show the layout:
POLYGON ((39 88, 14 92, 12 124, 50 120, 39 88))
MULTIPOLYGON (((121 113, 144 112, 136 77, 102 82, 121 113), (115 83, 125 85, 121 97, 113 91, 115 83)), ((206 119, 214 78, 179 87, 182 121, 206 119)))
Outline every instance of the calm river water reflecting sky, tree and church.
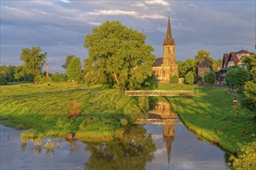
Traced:
MULTIPOLYGON (((158 105, 149 118, 177 117, 166 108, 169 110, 164 104, 158 105)), ((50 138, 55 144, 53 150, 43 147, 47 138, 43 138, 41 145, 29 140, 22 145, 19 139, 22 131, 0 127, 1 169, 228 168, 225 152, 200 140, 178 120, 167 124, 139 124, 132 127, 125 138, 106 143, 50 138)))

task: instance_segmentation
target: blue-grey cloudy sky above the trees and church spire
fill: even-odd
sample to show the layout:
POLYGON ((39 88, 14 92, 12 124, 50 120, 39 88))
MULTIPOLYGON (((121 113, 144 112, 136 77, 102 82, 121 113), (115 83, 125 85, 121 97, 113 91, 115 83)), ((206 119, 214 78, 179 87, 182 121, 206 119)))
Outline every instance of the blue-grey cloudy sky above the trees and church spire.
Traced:
POLYGON ((171 16, 176 60, 193 59, 204 49, 213 59, 247 49, 255 53, 254 0, 246 1, 97 1, 1 0, 1 65, 22 65, 24 48, 40 46, 47 53, 50 73, 64 73, 67 55, 88 57, 84 38, 106 21, 147 35, 146 43, 162 57, 162 44, 171 16))

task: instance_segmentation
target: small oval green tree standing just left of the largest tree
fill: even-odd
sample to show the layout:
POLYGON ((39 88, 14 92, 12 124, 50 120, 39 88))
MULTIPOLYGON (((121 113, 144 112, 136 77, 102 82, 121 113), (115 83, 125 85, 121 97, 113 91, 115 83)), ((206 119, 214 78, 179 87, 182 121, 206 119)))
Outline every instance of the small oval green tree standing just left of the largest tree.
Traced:
POLYGON ((71 59, 71 63, 67 65, 67 79, 68 80, 78 80, 78 76, 81 74, 81 61, 79 57, 74 57, 71 59))

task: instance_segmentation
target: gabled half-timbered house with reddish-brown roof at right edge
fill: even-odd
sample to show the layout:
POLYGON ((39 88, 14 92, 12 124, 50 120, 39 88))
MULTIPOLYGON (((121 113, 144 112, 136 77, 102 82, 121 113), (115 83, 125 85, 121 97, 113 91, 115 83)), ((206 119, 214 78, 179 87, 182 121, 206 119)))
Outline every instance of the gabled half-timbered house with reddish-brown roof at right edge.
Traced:
POLYGON ((227 68, 230 66, 241 66, 246 69, 246 66, 244 63, 242 63, 243 56, 251 56, 254 53, 248 52, 247 50, 240 50, 238 52, 230 52, 230 53, 224 53, 223 54, 223 63, 222 63, 222 69, 220 70, 220 83, 224 83, 225 74, 227 72, 227 68))

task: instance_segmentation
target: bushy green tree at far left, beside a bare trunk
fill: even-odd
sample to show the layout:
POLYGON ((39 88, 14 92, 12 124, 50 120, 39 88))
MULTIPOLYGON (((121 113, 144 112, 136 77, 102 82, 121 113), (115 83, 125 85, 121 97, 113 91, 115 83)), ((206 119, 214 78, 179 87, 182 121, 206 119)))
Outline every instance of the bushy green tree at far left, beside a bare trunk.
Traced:
POLYGON ((41 53, 40 46, 33 46, 32 49, 22 49, 20 59, 24 62, 23 72, 33 76, 42 73, 43 65, 47 62, 47 53, 41 53))

